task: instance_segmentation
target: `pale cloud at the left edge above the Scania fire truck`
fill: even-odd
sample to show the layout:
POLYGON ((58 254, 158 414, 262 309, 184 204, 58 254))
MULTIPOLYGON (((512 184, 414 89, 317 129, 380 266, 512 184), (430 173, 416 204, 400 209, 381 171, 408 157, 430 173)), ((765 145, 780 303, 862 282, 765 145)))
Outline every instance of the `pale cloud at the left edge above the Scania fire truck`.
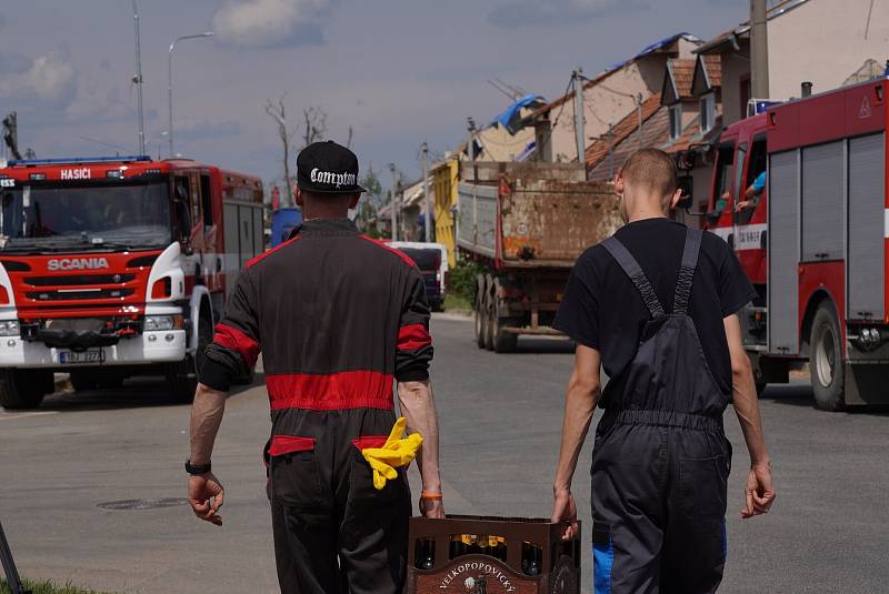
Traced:
POLYGON ((60 52, 38 56, 27 68, 11 70, 11 74, 0 79, 0 99, 63 108, 74 98, 74 68, 60 52))

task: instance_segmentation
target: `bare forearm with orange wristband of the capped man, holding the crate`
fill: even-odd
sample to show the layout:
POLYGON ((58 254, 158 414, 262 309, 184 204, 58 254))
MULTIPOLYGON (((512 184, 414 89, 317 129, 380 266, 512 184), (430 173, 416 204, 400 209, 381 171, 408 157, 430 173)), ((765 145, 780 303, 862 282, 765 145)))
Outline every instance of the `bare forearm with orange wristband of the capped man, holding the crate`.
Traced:
MULTIPOLYGON (((424 493, 441 493, 441 473, 438 463, 438 412, 429 380, 398 382, 398 402, 408 422, 409 432, 418 432, 423 444, 417 454, 424 493)), ((421 511, 429 517, 443 517, 440 500, 424 500, 421 511)))

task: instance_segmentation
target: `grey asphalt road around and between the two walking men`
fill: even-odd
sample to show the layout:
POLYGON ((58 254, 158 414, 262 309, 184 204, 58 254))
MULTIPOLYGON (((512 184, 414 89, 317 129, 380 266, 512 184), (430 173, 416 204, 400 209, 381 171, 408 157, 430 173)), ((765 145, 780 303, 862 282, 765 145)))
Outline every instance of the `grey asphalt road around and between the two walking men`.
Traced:
MULTIPOLYGON (((522 339, 519 352, 496 355, 476 349, 471 323, 447 315, 433 335, 447 510, 549 516, 570 345, 522 339)), ((748 460, 727 413, 735 470, 722 592, 889 591, 889 415, 820 413, 810 397, 803 385, 763 396, 778 501, 751 521, 739 519, 748 460)), ((182 505, 188 412, 150 380, 0 412, 0 522, 20 572, 114 592, 277 592, 260 463, 264 390, 228 401, 213 454, 227 487, 221 528, 182 505), (116 503, 127 500, 153 501, 116 503)), ((588 445, 575 480, 586 551, 589 464, 588 445)))

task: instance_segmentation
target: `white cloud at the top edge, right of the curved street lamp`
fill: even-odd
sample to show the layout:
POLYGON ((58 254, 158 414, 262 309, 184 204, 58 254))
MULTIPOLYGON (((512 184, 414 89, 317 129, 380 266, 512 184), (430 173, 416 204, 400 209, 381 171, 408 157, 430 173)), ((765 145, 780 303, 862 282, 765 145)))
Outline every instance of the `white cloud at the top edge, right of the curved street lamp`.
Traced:
POLYGON ((217 39, 241 47, 318 44, 331 0, 238 0, 213 14, 217 39))

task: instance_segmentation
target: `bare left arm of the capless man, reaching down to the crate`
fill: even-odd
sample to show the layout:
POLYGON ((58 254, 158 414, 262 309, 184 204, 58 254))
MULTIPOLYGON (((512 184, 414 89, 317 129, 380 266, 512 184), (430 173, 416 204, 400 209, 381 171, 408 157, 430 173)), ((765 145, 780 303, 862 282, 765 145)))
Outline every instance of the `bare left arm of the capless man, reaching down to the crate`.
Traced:
POLYGON ((578 344, 575 353, 575 370, 568 382, 565 396, 565 421, 559 463, 552 492, 556 503, 552 510, 553 522, 569 522, 565 537, 570 538, 577 531, 577 507, 571 496, 571 480, 577 470, 577 461, 583 449, 583 441, 592 422, 592 414, 601 397, 599 366, 601 355, 596 349, 578 344))

